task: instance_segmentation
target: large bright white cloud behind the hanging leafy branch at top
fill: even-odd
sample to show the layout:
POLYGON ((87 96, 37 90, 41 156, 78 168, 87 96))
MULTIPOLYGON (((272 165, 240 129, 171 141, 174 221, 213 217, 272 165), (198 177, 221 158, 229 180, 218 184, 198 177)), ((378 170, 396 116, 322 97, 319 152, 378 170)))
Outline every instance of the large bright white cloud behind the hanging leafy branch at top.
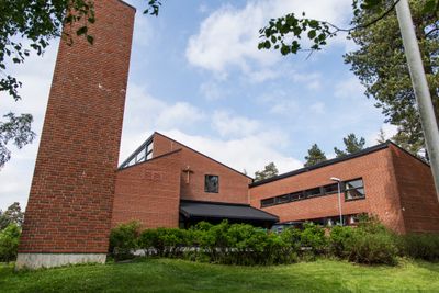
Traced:
POLYGON ((259 29, 269 19, 306 11, 308 18, 345 24, 351 15, 350 4, 349 0, 255 0, 248 1, 243 9, 223 5, 202 22, 198 34, 190 37, 187 58, 193 66, 222 77, 229 67, 240 68, 247 74, 255 71, 255 67, 270 67, 281 59, 280 54, 257 48, 259 29))

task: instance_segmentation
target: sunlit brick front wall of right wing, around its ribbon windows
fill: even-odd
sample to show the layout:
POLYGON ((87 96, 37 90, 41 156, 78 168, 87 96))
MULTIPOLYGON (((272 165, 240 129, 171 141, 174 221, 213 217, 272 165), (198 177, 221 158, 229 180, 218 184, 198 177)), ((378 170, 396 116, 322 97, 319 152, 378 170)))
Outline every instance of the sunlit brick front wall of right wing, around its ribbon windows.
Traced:
MULTIPOLYGON (((259 209, 261 199, 330 184, 334 183, 329 180, 331 177, 344 181, 362 178, 364 182, 364 200, 345 202, 342 194, 342 214, 364 212, 375 214, 389 227, 404 232, 393 159, 389 148, 250 188, 250 204, 259 209)), ((281 222, 337 216, 339 213, 337 194, 279 204, 262 210, 278 215, 281 222)))

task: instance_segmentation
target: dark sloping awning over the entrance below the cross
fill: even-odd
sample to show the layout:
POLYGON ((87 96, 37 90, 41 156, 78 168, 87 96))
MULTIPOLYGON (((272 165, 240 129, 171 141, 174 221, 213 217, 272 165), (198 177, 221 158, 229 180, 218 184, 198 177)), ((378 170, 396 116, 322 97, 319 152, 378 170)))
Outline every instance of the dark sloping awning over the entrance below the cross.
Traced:
POLYGON ((227 218, 244 222, 270 222, 275 223, 279 217, 248 204, 180 201, 180 213, 185 218, 227 218))

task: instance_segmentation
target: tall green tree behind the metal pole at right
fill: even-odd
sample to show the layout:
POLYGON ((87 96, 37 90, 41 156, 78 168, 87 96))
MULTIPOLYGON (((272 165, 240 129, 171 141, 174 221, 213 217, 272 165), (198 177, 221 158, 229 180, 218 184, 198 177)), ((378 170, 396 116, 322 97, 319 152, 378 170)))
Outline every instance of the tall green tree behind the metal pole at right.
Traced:
MULTIPOLYGON (((439 122, 439 22, 437 13, 424 10, 425 1, 412 1, 413 21, 439 122)), ((362 10, 352 24, 361 26, 382 13, 381 8, 362 10)), ((345 63, 360 79, 365 95, 376 100, 386 122, 397 125, 393 140, 414 155, 425 149, 424 134, 417 110, 398 21, 394 12, 374 25, 350 34, 358 49, 345 55, 345 63)))

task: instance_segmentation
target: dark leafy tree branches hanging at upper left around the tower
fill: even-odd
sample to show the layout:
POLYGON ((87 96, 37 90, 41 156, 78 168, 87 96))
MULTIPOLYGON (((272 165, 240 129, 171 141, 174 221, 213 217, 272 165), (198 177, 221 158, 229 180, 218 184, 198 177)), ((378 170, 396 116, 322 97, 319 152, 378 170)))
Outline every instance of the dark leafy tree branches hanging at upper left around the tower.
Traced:
MULTIPOLYGON (((159 1, 148 1, 144 13, 157 15, 159 1)), ((83 36, 90 44, 94 37, 89 25, 94 18, 93 0, 1 0, 0 1, 0 92, 20 100, 21 81, 9 74, 10 65, 23 64, 35 53, 44 54, 50 40, 63 37, 72 44, 72 35, 83 36)), ((92 61, 92 60, 90 60, 92 61)), ((0 167, 11 157, 7 145, 13 142, 19 148, 35 138, 31 114, 9 113, 0 121, 0 167)))

